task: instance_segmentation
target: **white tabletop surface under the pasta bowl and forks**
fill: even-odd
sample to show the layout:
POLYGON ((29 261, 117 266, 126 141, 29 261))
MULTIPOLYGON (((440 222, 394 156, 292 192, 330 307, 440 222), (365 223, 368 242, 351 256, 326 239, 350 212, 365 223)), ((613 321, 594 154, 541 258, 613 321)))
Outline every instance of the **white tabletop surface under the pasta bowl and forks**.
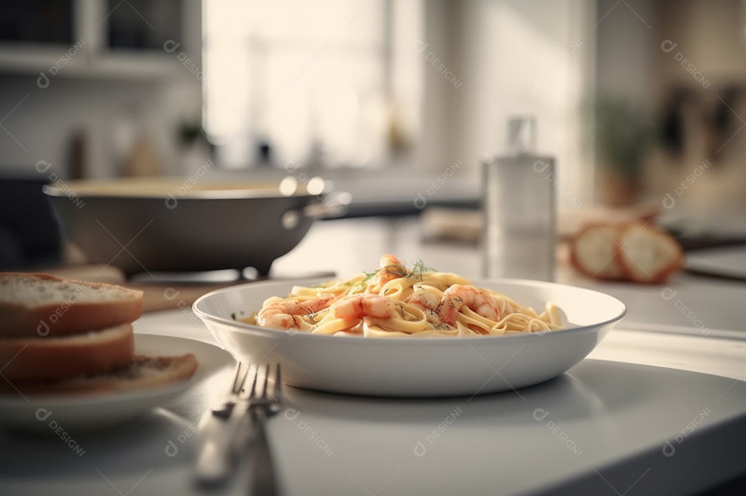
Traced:
MULTIPOLYGON (((343 276, 389 252, 480 276, 474 245, 423 240, 413 219, 317 223, 273 274, 343 276)), ((557 279, 629 307, 588 359, 548 383, 471 399, 286 388, 269 421, 283 494, 686 495, 745 473, 746 283, 685 273, 662 286, 598 283, 567 269, 557 279)), ((135 330, 215 343, 188 307, 145 314, 135 330)), ((0 430, 0 495, 203 494, 194 431, 230 375, 134 423, 71 432, 82 456, 54 432, 0 430)), ((245 495, 248 482, 241 471, 204 494, 245 495)))

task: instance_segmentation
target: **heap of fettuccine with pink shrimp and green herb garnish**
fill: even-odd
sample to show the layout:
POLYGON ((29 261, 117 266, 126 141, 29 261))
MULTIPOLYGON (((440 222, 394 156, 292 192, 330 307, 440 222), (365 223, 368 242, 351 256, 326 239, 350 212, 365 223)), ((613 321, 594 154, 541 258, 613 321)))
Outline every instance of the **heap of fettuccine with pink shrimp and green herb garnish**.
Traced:
POLYGON ((472 286, 464 277, 428 269, 409 270, 392 255, 380 268, 316 287, 295 286, 273 296, 249 324, 334 336, 502 336, 562 328, 560 311, 542 313, 507 295, 472 286))

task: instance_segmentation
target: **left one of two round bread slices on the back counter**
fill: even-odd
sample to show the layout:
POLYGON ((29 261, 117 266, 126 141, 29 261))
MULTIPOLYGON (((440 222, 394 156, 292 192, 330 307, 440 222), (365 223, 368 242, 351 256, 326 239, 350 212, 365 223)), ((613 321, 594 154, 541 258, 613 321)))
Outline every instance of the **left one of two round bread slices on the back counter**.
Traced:
POLYGON ((581 229, 571 242, 572 265, 595 279, 623 278, 624 271, 617 260, 621 250, 619 230, 620 227, 613 224, 593 224, 581 229))

